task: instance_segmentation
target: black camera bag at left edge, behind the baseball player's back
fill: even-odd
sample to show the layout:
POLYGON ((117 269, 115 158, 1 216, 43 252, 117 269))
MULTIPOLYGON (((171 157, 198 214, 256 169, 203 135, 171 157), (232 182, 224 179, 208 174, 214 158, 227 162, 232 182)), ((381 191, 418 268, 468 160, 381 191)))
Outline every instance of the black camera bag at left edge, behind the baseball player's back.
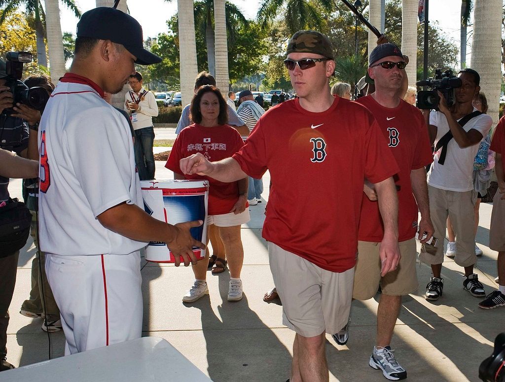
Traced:
POLYGON ((0 257, 7 257, 20 250, 30 235, 32 216, 25 203, 9 199, 0 207, 0 257))

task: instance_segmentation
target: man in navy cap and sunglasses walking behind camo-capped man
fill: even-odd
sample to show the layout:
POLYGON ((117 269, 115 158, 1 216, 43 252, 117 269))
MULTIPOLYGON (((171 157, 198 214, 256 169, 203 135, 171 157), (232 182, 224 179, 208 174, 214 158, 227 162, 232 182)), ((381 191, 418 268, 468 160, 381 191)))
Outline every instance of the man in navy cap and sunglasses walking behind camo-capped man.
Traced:
MULTIPOLYGON (((407 371, 392 355, 390 348, 394 324, 401 307, 401 296, 418 288, 416 275, 416 240, 418 206, 421 211, 419 232, 426 233, 422 242, 431 239, 433 225, 428 204, 425 166, 433 161, 426 122, 422 113, 399 97, 406 66, 400 49, 391 43, 378 45, 370 54, 369 76, 375 92, 360 98, 372 112, 388 141, 400 171, 395 184, 398 190, 398 241, 401 259, 398 268, 380 275, 378 245, 384 235, 379 204, 373 187, 365 186, 358 232, 358 260, 355 268, 352 297, 368 300, 382 295, 377 309, 377 342, 370 357, 370 366, 381 369, 388 379, 405 379, 407 371)), ((333 338, 347 342, 347 325, 333 338)))

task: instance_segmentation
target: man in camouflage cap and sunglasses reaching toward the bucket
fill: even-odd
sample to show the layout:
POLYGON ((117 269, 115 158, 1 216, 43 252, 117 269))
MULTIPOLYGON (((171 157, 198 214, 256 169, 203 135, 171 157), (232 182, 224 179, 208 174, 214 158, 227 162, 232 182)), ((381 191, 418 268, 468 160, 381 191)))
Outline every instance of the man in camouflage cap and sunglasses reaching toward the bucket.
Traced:
POLYGON ((211 163, 196 154, 180 165, 223 182, 269 170, 263 237, 283 323, 296 331, 292 380, 328 380, 325 332, 336 333, 348 319, 365 178, 383 212, 382 274, 399 260, 398 167, 372 114, 330 94, 333 58, 326 36, 296 32, 284 64, 299 98, 270 108, 232 158, 211 163))

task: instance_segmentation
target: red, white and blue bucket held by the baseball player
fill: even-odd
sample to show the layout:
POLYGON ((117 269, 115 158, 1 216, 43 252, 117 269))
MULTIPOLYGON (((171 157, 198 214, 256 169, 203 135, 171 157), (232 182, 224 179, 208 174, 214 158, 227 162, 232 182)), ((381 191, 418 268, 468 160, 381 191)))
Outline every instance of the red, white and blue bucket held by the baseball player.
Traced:
MULTIPOLYGON (((205 244, 207 240, 207 204, 209 182, 206 180, 141 181, 144 210, 155 219, 172 225, 201 220, 200 227, 191 228, 191 236, 205 244)), ((205 249, 193 247, 198 260, 205 249)), ((145 259, 153 262, 175 262, 174 255, 163 242, 151 241, 145 248, 145 259)))

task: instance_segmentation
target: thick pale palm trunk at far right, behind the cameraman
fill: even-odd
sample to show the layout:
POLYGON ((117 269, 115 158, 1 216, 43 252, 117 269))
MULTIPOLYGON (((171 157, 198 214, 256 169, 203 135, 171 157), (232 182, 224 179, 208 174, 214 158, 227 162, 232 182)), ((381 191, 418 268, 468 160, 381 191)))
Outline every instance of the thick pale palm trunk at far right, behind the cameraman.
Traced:
POLYGON ((502 0, 475 0, 471 67, 480 74, 489 114, 498 121, 501 80, 502 0))

